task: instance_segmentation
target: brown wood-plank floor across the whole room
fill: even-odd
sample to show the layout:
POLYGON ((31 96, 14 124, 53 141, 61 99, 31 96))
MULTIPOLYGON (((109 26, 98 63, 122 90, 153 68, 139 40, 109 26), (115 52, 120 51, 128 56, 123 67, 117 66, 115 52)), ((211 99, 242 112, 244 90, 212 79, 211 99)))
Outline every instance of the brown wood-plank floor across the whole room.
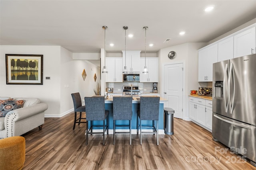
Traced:
POLYGON ((26 160, 24 170, 255 170, 249 161, 212 141, 209 131, 190 121, 174 119, 174 135, 117 134, 89 135, 85 145, 86 124, 73 128, 74 113, 61 118, 45 118, 42 130, 24 134, 26 160))

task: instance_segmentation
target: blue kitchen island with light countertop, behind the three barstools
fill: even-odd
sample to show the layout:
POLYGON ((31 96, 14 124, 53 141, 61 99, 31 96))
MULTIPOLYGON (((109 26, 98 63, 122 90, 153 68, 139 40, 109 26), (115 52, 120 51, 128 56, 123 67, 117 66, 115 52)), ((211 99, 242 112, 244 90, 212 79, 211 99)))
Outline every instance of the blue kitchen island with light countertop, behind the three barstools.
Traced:
MULTIPOLYGON (((159 102, 159 120, 158 120, 158 129, 159 134, 164 134, 164 102, 167 100, 164 98, 160 98, 159 102)), ((137 110, 140 107, 140 97, 134 96, 132 100, 132 134, 137 134, 137 110)), ((113 98, 107 98, 105 100, 105 109, 109 111, 108 117, 108 125, 109 125, 109 133, 113 134, 113 98)), ((128 120, 118 120, 116 121, 116 125, 118 124, 127 124, 128 120)), ((143 121, 143 124, 152 125, 152 121, 143 121)), ((94 125, 102 125, 102 121, 94 121, 94 125)), ((88 122, 88 126, 90 127, 90 122, 88 122)), ((96 127, 97 128, 97 127, 96 127)), ((94 131, 100 131, 101 128, 94 128, 94 131)), ((116 131, 127 131, 128 127, 116 127, 116 131)))

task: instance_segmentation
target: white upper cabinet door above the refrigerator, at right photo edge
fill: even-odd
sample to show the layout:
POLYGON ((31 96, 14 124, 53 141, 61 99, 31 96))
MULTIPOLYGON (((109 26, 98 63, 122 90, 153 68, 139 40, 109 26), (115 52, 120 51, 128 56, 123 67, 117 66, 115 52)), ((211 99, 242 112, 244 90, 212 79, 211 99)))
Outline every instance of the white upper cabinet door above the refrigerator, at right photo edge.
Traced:
POLYGON ((234 35, 234 58, 255 53, 255 27, 234 35))

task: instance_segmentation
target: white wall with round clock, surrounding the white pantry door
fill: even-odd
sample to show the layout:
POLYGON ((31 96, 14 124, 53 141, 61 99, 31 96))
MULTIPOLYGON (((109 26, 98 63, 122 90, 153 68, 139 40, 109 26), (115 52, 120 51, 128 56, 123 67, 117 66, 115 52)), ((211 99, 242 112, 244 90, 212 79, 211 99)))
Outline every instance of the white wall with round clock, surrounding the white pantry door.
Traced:
POLYGON ((184 43, 161 49, 158 52, 159 59, 159 82, 158 89, 162 96, 163 83, 163 66, 164 64, 185 63, 185 89, 184 89, 184 108, 183 119, 188 120, 188 95, 190 90, 198 89, 198 49, 202 48, 206 43, 184 43), (176 58, 170 60, 168 53, 170 51, 176 52, 176 58))

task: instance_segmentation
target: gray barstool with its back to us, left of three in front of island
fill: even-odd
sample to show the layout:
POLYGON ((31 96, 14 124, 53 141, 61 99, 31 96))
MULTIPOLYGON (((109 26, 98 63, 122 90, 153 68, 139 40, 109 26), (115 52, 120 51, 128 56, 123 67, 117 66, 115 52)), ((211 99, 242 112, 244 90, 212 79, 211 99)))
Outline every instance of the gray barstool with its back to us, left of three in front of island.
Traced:
POLYGON ((92 134, 103 134, 103 145, 105 145, 106 131, 108 134, 109 111, 105 110, 104 96, 85 97, 84 101, 85 101, 86 120, 90 121, 90 129, 89 130, 88 130, 88 123, 86 123, 86 145, 88 145, 88 133, 90 133, 91 135, 92 134), (103 125, 93 125, 93 121, 103 121, 103 125), (103 127, 103 131, 102 132, 92 132, 93 127, 103 127))

